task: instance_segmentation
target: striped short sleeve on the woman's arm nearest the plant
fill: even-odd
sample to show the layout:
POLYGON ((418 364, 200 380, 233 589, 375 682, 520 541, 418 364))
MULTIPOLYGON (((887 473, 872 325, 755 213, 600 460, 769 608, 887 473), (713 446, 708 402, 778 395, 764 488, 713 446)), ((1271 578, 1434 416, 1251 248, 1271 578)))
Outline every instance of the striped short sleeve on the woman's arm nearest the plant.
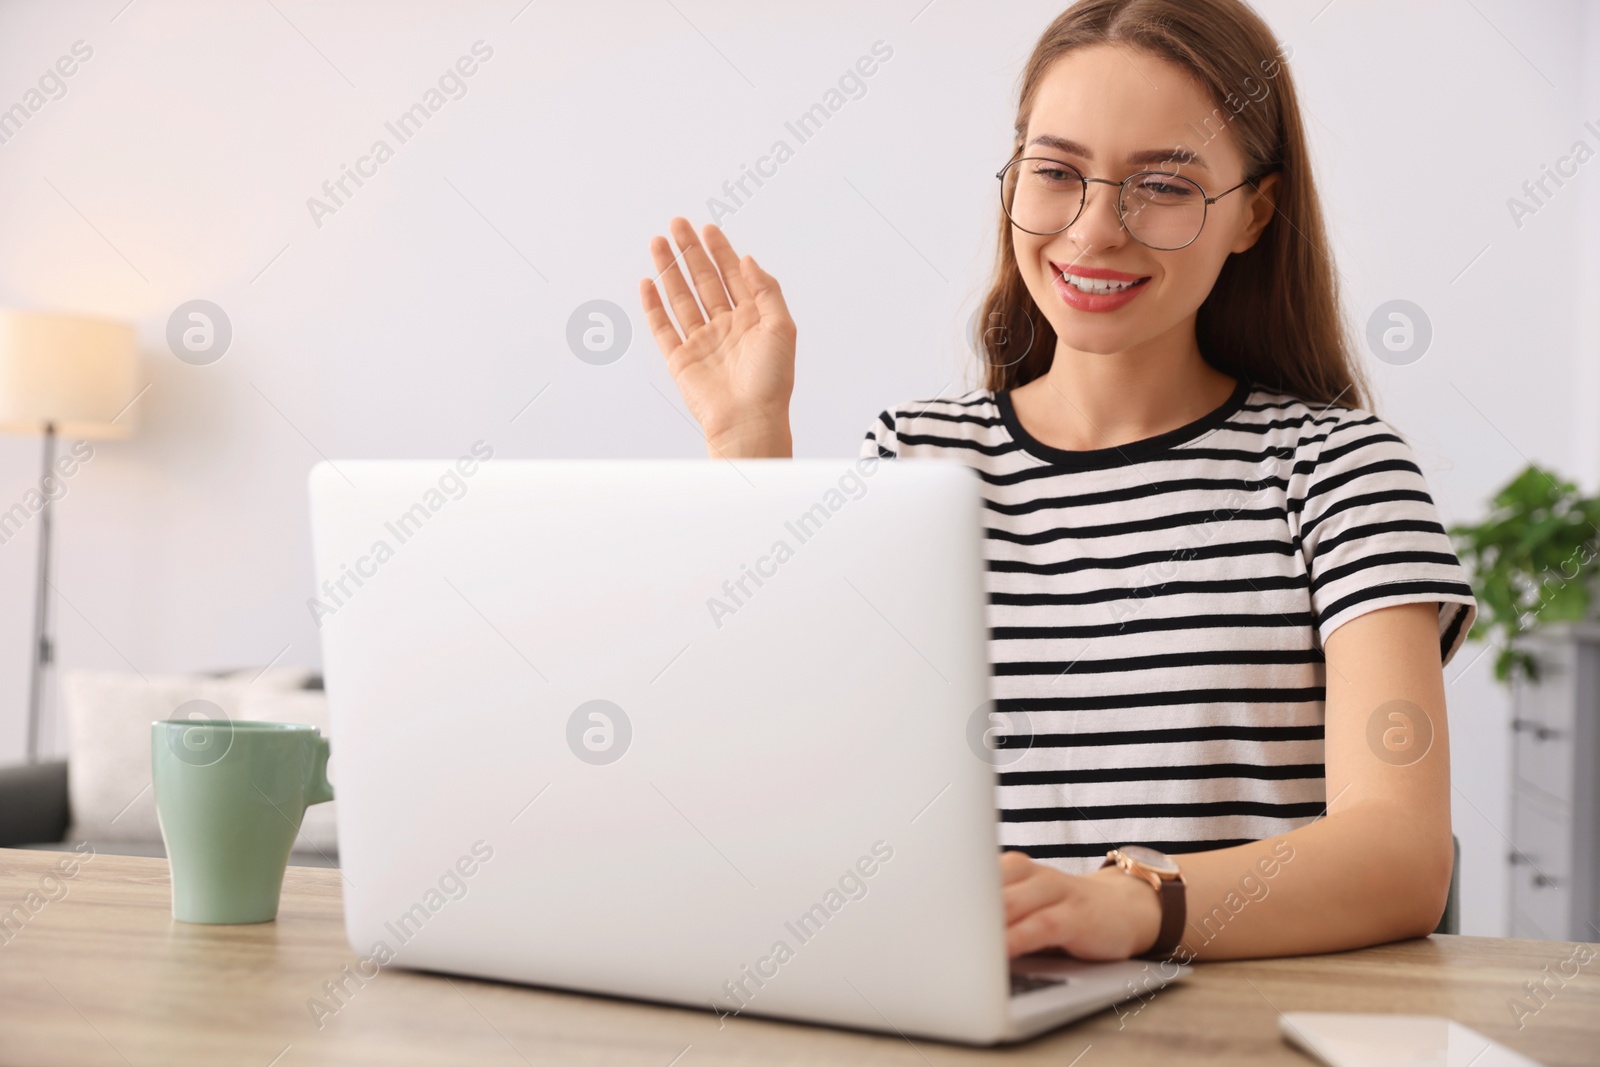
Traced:
POLYGON ((1435 601, 1448 664, 1478 606, 1411 446, 1378 416, 1349 410, 1302 485, 1299 545, 1323 646, 1368 611, 1435 601))

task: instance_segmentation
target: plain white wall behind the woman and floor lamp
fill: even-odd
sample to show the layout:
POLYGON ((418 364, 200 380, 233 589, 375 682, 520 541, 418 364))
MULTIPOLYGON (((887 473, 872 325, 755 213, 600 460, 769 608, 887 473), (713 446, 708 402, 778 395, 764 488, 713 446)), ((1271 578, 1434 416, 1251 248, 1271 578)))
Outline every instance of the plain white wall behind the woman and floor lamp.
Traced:
MULTIPOLYGON (((141 435, 98 446, 59 509, 62 664, 315 664, 304 478, 318 454, 454 456, 478 438, 498 456, 699 454, 634 310, 645 242, 675 213, 704 221, 774 139, 795 144, 784 122, 878 40, 893 58, 866 96, 725 226, 800 323, 803 454, 851 453, 882 406, 962 386, 1016 78, 1058 10, 0 5, 0 107, 74 42, 94 50, 0 144, 0 302, 138 323, 150 382, 141 435), (318 227, 307 198, 392 142, 384 122, 478 40, 493 58, 467 94, 318 227), (195 298, 234 326, 210 366, 165 344, 195 298), (565 344, 595 298, 634 315, 610 366, 565 344)), ((1600 278, 1600 163, 1522 227, 1506 202, 1594 139, 1595 6, 1261 10, 1294 48, 1352 318, 1405 298, 1432 320, 1422 360, 1373 366, 1446 522, 1525 459, 1594 486, 1600 326, 1579 294, 1592 306, 1600 278)), ((30 485, 35 448, 0 438, 0 506, 30 485)), ((22 747, 32 550, 32 531, 0 547, 0 758, 22 747)), ((1456 824, 1466 926, 1498 933, 1507 707, 1478 651, 1448 672, 1456 824)))

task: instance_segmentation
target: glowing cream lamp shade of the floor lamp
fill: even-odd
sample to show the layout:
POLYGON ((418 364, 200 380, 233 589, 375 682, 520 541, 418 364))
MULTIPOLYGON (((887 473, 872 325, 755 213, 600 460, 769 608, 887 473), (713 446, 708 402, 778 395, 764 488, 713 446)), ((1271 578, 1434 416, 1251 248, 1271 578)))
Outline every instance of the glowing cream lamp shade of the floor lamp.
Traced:
POLYGON ((128 437, 138 373, 126 323, 0 309, 0 432, 128 437))

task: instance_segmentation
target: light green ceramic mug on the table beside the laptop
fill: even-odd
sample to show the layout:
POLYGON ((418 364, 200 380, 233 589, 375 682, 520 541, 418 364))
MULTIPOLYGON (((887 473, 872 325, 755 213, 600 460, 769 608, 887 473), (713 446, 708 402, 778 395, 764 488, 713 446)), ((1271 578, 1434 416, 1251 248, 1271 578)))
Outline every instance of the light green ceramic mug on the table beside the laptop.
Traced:
POLYGON ((301 723, 150 723, 155 814, 173 918, 267 923, 306 808, 333 800, 328 739, 301 723))

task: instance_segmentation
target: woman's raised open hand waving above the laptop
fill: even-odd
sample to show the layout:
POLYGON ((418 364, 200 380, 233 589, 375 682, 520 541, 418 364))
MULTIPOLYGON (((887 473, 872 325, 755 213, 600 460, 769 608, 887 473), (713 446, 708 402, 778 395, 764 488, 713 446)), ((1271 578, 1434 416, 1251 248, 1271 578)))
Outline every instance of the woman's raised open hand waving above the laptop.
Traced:
POLYGON ((672 219, 669 230, 694 288, 683 278, 667 238, 653 237, 650 258, 672 317, 650 278, 638 283, 638 299, 672 381, 706 434, 707 453, 725 459, 790 456, 795 323, 778 278, 754 256, 739 259, 715 226, 702 230, 704 245, 688 219, 672 219))

